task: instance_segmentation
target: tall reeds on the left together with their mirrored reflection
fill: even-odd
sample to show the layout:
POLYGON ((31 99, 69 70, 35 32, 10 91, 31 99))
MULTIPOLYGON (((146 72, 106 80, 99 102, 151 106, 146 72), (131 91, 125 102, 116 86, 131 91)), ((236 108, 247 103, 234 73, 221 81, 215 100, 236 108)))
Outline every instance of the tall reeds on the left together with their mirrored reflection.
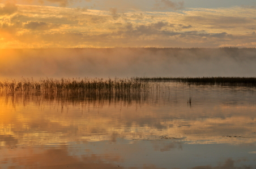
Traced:
MULTIPOLYGON (((61 105, 131 103, 142 104, 148 99, 150 83, 139 78, 99 79, 23 79, 22 81, 0 82, 0 96, 13 105, 31 101, 43 104, 45 101, 61 105)), ((6 102, 6 103, 7 103, 6 102)))

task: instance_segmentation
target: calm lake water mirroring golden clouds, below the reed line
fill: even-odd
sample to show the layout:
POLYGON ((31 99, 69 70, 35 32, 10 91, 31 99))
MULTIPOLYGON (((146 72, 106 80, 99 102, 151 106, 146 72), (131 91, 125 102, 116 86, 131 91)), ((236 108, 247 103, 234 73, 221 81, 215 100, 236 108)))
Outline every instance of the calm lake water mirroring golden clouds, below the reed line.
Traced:
POLYGON ((152 85, 97 97, 2 92, 0 168, 256 168, 256 88, 152 85))

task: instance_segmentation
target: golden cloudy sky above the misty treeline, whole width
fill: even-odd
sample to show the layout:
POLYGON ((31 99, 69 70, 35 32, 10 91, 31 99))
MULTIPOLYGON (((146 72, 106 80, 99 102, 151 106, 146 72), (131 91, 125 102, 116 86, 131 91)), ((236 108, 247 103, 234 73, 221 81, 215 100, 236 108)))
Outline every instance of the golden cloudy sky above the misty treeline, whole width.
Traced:
POLYGON ((255 0, 0 0, 0 48, 256 47, 255 0))

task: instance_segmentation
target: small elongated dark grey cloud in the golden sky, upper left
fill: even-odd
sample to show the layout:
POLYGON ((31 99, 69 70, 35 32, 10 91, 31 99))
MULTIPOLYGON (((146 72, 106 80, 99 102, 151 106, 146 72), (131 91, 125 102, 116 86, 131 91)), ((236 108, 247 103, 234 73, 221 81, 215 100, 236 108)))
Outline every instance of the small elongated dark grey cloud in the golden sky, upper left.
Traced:
POLYGON ((28 23, 24 24, 25 29, 31 30, 49 30, 49 29, 57 29, 60 24, 50 24, 45 23, 43 21, 28 21, 28 23))

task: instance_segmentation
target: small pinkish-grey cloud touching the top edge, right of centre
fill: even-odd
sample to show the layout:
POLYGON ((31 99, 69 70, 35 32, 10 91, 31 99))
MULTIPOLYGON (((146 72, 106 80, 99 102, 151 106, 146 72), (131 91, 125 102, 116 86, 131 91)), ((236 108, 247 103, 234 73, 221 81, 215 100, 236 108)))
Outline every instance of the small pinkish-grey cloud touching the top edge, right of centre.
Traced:
POLYGON ((157 0, 153 7, 154 10, 167 10, 169 8, 172 10, 180 10, 184 8, 184 1, 172 2, 169 0, 157 0))

